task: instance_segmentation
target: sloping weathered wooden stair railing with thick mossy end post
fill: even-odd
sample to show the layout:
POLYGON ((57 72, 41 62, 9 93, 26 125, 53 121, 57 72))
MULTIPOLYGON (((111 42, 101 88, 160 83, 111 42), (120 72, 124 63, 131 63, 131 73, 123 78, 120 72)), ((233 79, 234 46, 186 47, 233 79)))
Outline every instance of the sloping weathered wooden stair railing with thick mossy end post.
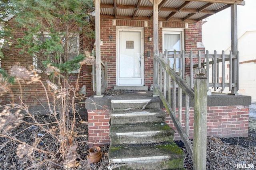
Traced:
MULTIPOLYGON (((173 54, 174 59, 176 53, 173 54)), ((181 55, 182 56, 182 55, 181 55)), ((184 59, 183 55, 183 59, 184 59)), ((195 90, 189 76, 184 79, 184 71, 176 73, 176 63, 170 67, 168 52, 154 54, 154 96, 160 96, 166 110, 180 134, 191 158, 194 169, 206 169, 207 135, 207 78, 204 68, 196 69, 195 90), (182 127, 182 93, 185 93, 185 125, 182 127), (176 98, 178 111, 176 111, 176 98), (189 103, 194 100, 194 147, 189 136, 189 103)), ((184 66, 183 66, 184 67, 184 66)), ((193 72, 193 71, 192 71, 193 72)))

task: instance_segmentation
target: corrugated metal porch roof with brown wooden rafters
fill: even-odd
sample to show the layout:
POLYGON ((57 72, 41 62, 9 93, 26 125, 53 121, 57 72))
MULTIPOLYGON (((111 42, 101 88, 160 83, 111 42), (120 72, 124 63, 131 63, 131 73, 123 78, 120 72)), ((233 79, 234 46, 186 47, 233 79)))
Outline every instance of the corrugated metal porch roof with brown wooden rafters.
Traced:
MULTIPOLYGON (((154 0, 100 0, 102 18, 152 20, 154 0)), ((198 22, 244 0, 158 0, 162 21, 198 22)))

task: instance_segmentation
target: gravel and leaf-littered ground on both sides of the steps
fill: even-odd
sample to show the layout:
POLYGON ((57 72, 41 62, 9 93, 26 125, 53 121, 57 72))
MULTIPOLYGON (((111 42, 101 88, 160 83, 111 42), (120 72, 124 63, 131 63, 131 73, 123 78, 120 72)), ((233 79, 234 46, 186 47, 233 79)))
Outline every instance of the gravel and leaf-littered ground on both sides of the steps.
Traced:
MULTIPOLYGON (((40 119, 47 119, 46 116, 38 117, 40 119)), ((87 121, 87 115, 82 115, 82 121, 87 121)), ((76 137, 78 148, 76 149, 78 162, 75 170, 108 170, 108 147, 104 145, 102 149, 102 159, 98 163, 90 164, 87 161, 88 155, 88 127, 81 123, 81 119, 76 122, 76 137)), ((12 131, 12 135, 28 128, 26 124, 22 123, 12 131)), ((35 136, 41 133, 40 128, 26 129, 19 133, 16 137, 25 141, 28 144, 33 144, 35 136)), ((51 137, 45 135, 42 138, 42 145, 38 146, 45 150, 54 150, 51 148, 51 137)), ((62 170, 62 160, 52 159, 45 161, 40 167, 36 162, 44 161, 44 155, 33 152, 35 160, 29 160, 24 156, 20 159, 17 156, 17 147, 19 143, 9 141, 0 136, 0 170, 62 170), (7 142, 7 143, 6 143, 7 142), (55 162, 55 163, 53 163, 55 162)), ((187 170, 192 170, 193 164, 188 152, 186 151, 182 141, 175 141, 177 145, 186 153, 184 167, 187 170)), ((192 141, 193 142, 193 141, 192 141)), ((220 139, 218 137, 208 137, 207 139, 207 170, 235 170, 237 164, 254 164, 256 166, 256 119, 250 119, 250 131, 248 137, 226 138, 220 139)), ((256 168, 255 168, 256 169, 256 168)))

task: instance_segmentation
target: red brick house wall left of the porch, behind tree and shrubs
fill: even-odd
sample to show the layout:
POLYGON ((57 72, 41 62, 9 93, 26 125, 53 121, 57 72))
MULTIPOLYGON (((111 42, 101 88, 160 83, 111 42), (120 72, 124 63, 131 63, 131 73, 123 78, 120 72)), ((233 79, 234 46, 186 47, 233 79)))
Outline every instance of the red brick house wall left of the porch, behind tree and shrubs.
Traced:
MULTIPOLYGON (((9 21, 9 25, 15 25, 14 19, 9 21)), ((15 39, 22 38, 24 36, 23 31, 26 31, 25 28, 20 29, 12 29, 14 39, 12 40, 12 46, 4 48, 3 53, 4 57, 1 58, 1 68, 8 71, 10 66, 17 64, 19 66, 24 66, 28 68, 32 65, 32 56, 26 53, 26 49, 18 48, 16 45, 18 43, 15 41, 15 39), (24 53, 21 53, 22 50, 24 50, 24 53)), ((80 35, 80 51, 86 52, 92 51, 94 39, 91 39, 90 37, 84 35, 80 35)), ((80 70, 80 78, 78 79, 78 85, 79 89, 82 88, 83 85, 86 86, 86 96, 91 96, 91 72, 92 72, 92 66, 90 65, 84 65, 82 66, 82 69, 80 70)), ((46 80, 48 80, 48 77, 45 74, 40 74, 42 77, 42 82, 46 85, 46 80)), ((70 74, 70 82, 72 86, 75 86, 76 79, 78 78, 78 74, 70 74)), ((47 86, 47 85, 46 85, 47 86)), ((46 92, 44 91, 44 88, 42 87, 42 84, 40 83, 31 83, 27 84, 26 82, 21 82, 21 84, 13 84, 12 86, 13 90, 13 98, 14 102, 20 102, 21 96, 24 104, 27 104, 28 106, 39 106, 39 105, 46 105, 48 103, 46 98, 46 92), (21 87, 21 90, 20 90, 21 87), (22 93, 21 93, 22 92, 22 93)), ((12 101, 12 96, 10 94, 4 95, 0 97, 1 104, 8 104, 9 101, 12 101)), ((50 98, 51 101, 52 98, 50 98)))

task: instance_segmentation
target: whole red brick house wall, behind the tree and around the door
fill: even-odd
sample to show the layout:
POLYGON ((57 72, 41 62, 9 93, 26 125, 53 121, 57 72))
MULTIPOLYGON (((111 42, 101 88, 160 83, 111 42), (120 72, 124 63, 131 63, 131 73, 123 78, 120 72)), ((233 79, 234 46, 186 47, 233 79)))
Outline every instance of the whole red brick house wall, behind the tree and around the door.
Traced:
MULTIPOLYGON (((11 25, 11 24, 10 24, 11 25)), ((186 51, 193 50, 197 53, 197 42, 202 41, 202 29, 201 23, 188 23, 188 27, 185 28, 184 22, 172 22, 172 21, 162 21, 162 27, 169 28, 184 28, 185 29, 185 49, 186 51)), ((132 27, 144 27, 144 21, 139 20, 116 20, 116 25, 113 25, 112 19, 101 19, 101 39, 103 40, 103 45, 101 46, 101 59, 102 61, 108 62, 108 88, 113 88, 116 85, 116 26, 132 26, 132 27), (112 35, 112 39, 109 38, 112 35)), ((159 28, 159 50, 162 52, 162 27, 159 28)), ((16 31, 16 38, 22 37, 23 33, 16 31)), ((82 35, 81 35, 82 36, 82 35)), ((148 26, 144 27, 144 70, 145 70, 145 85, 150 87, 153 83, 153 41, 148 42, 148 37, 153 38, 153 23, 148 21, 148 26), (150 57, 147 56, 147 51, 150 51, 150 57)), ((89 37, 83 36, 82 42, 80 42, 80 49, 84 51, 91 51, 93 47, 94 40, 89 37)), ((13 45, 14 47, 15 45, 13 45)), ((10 48, 5 51, 5 58, 2 59, 2 68, 7 69, 8 66, 13 63, 19 62, 23 66, 28 66, 32 64, 32 57, 24 54, 20 54, 22 49, 10 48)), ((194 61, 195 63, 196 61, 194 61)), ((186 61, 186 65, 190 63, 189 60, 186 61)), ((94 94, 92 92, 92 77, 91 77, 92 66, 83 66, 81 70, 81 78, 79 79, 79 88, 86 85, 86 95, 90 96, 94 94)), ((189 69, 186 69, 189 72, 189 69)), ((76 80, 77 75, 72 75, 72 79, 76 80)), ((75 81, 73 81, 75 82, 75 81)), ((14 86, 17 88, 17 86, 14 86)), ((36 98, 40 96, 42 91, 35 86, 30 86, 28 88, 28 96, 31 96, 30 103, 35 103, 36 98), (34 98, 34 99, 32 99, 34 98)), ((14 94, 18 96, 18 94, 14 94)), ((9 98, 8 98, 9 99, 9 98)))

